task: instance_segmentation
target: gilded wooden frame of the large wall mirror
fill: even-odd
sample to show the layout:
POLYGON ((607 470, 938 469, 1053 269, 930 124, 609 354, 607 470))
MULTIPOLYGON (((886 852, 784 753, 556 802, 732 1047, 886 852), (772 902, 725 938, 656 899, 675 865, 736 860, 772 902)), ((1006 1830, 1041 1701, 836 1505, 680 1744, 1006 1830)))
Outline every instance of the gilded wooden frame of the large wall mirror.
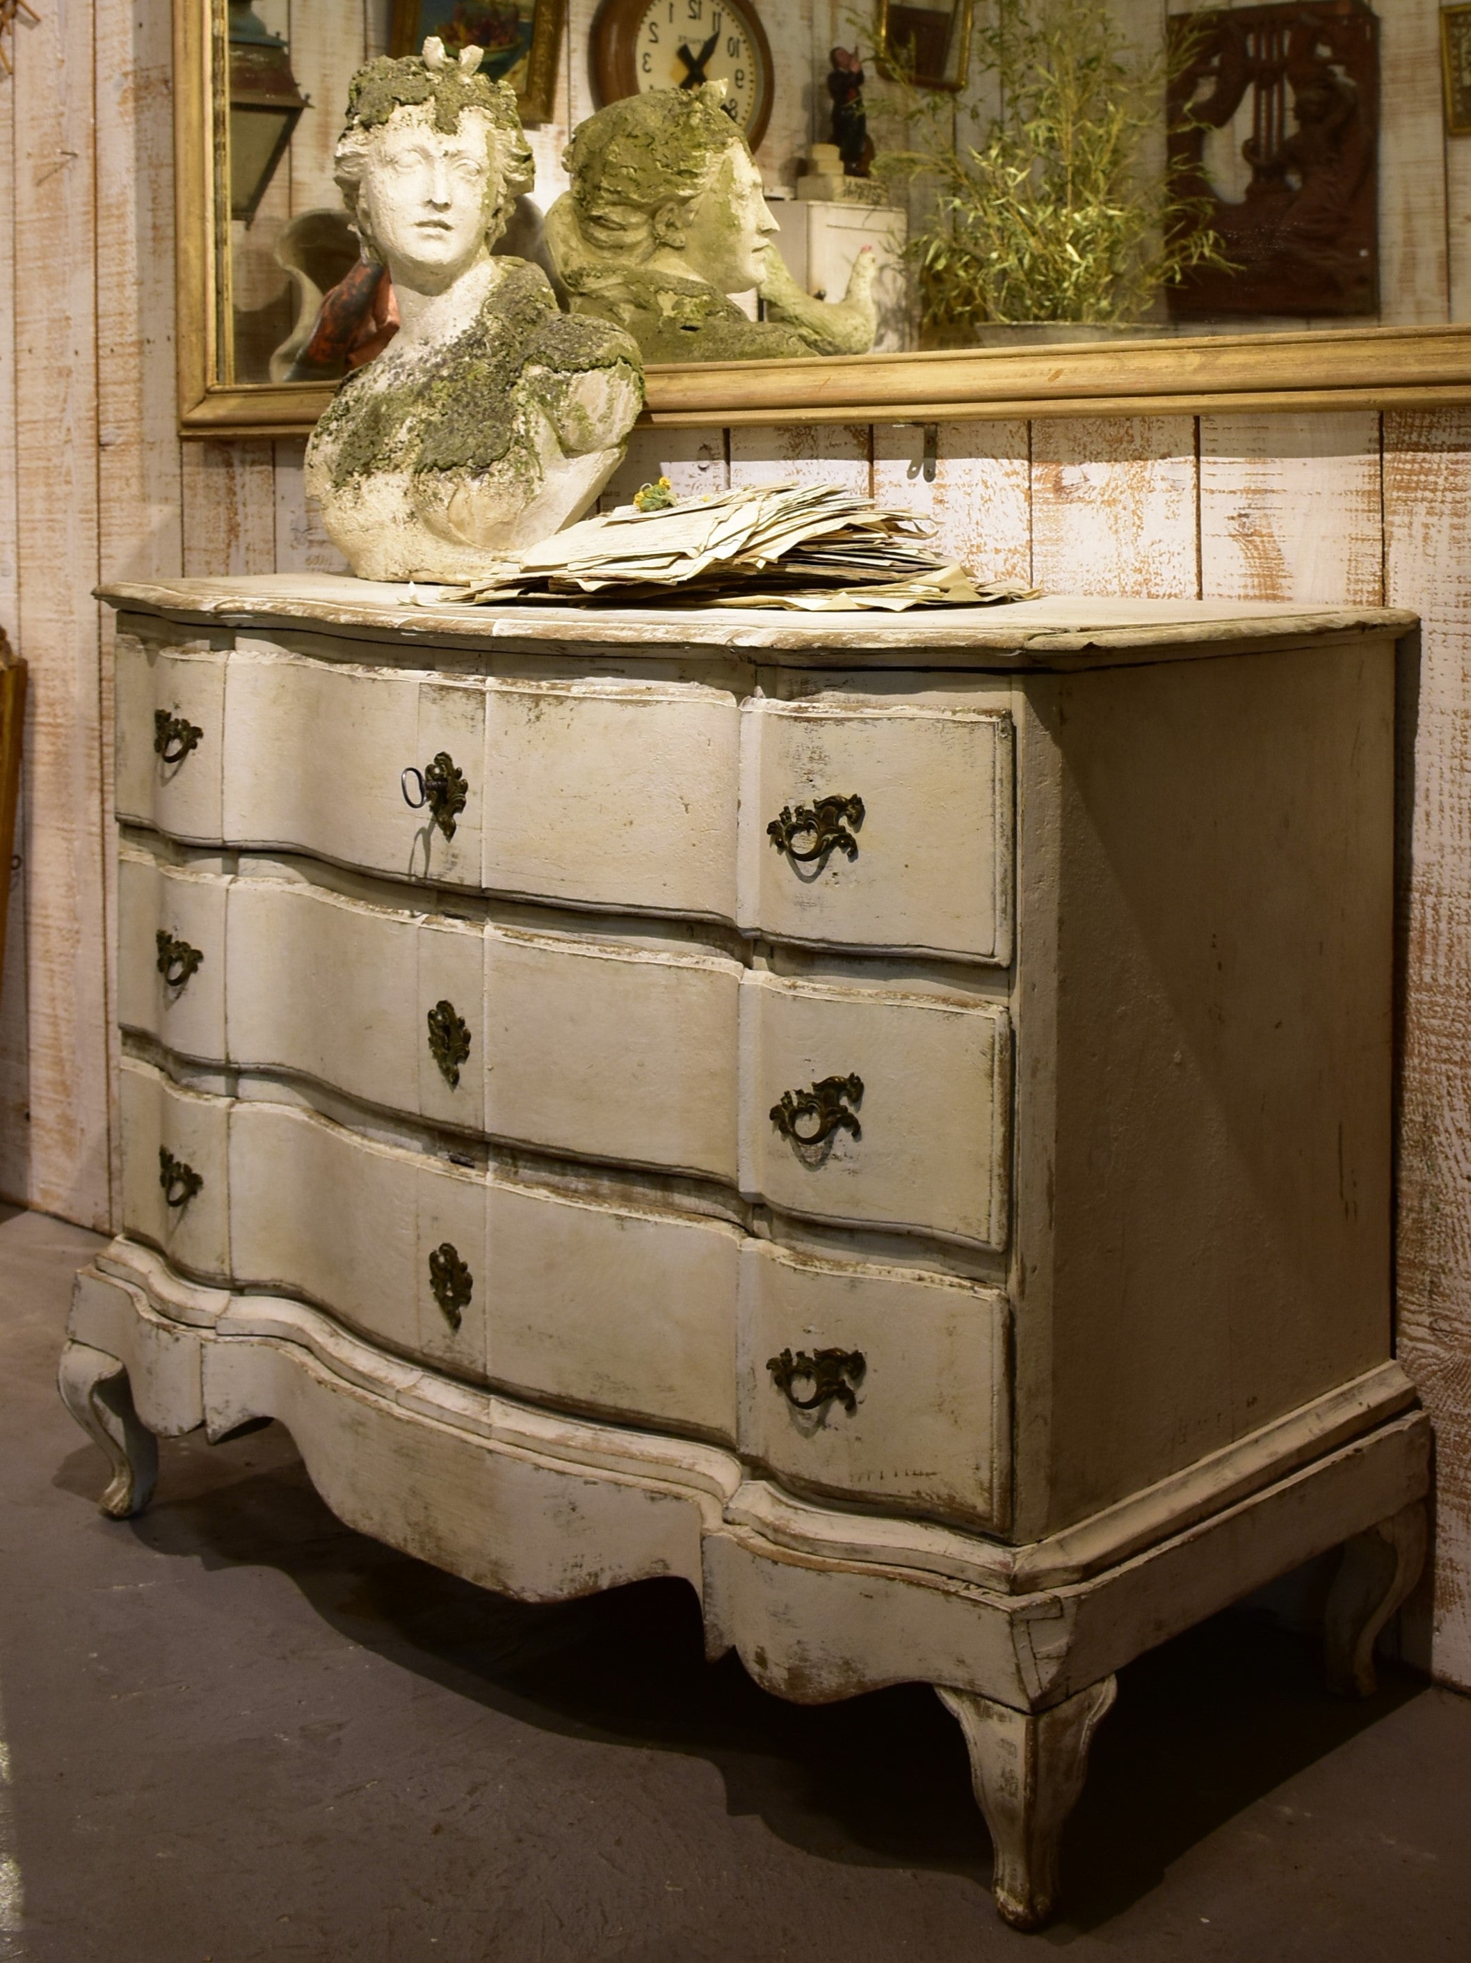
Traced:
MULTIPOLYGON (((212 0, 175 0, 178 432, 306 436, 331 400, 331 383, 216 381, 214 61, 212 0)), ((681 363, 649 369, 643 422, 975 422, 1463 402, 1471 402, 1471 324, 681 363)))

